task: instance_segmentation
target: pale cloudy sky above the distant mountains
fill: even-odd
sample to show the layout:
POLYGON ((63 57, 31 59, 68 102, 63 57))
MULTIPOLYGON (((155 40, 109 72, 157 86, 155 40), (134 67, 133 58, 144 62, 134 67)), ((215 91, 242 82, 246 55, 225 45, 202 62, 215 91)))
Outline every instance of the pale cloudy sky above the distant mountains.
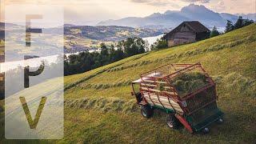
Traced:
MULTIPOLYGON (((181 10, 190 3, 218 13, 256 13, 256 0, 0 0, 1 22, 5 6, 44 4, 64 7, 65 23, 94 25, 107 19, 145 17, 166 10, 181 10)), ((14 9, 16 10, 16 9, 14 9)))

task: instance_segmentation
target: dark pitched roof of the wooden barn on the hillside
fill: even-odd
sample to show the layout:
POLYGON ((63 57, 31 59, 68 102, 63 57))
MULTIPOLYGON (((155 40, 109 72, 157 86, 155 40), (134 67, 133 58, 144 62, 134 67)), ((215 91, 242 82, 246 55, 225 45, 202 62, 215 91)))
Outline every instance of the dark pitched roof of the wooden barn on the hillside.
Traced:
MULTIPOLYGON (((170 33, 168 33, 168 34, 172 34, 174 32, 177 32, 179 30, 179 27, 183 26, 184 24, 186 26, 189 26, 190 29, 193 30, 196 33, 210 32, 210 30, 206 26, 203 26, 202 23, 200 23, 198 21, 185 21, 185 22, 182 22, 180 25, 178 25, 176 28, 174 28, 174 30, 171 30, 170 33)), ((165 38, 165 36, 163 38, 165 38)))

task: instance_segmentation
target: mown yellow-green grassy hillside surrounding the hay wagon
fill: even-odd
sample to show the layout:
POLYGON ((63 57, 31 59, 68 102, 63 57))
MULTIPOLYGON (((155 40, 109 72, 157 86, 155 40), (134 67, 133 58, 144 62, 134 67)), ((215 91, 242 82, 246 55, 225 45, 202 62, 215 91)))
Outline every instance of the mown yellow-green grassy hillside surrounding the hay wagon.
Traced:
POLYGON ((54 142, 249 142, 256 138, 256 25, 216 38, 153 51, 65 77, 65 138, 54 142), (166 63, 201 62, 217 82, 225 115, 210 134, 170 130, 164 114, 145 119, 130 82, 166 63))

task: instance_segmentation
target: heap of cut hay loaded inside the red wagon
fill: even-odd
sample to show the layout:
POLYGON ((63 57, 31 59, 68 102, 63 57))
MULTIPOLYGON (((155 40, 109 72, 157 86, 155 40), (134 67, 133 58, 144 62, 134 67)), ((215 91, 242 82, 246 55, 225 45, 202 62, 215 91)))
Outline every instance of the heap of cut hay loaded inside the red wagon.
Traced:
POLYGON ((194 90, 206 86, 206 75, 199 72, 190 72, 185 74, 179 74, 171 80, 171 84, 176 88, 180 97, 186 96, 194 90))

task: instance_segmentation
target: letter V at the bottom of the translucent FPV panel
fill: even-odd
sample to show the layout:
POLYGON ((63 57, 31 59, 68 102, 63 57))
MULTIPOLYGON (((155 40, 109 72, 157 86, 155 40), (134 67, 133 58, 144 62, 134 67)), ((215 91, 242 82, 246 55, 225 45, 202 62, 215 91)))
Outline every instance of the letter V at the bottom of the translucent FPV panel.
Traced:
POLYGON ((20 97, 19 100, 22 102, 22 107, 24 110, 24 113, 26 114, 26 120, 30 125, 30 129, 35 129, 38 126, 39 118, 42 114, 42 109, 45 106, 46 103, 46 97, 42 97, 40 104, 38 106, 37 114, 34 117, 34 120, 31 117, 29 107, 27 106, 26 99, 24 97, 20 97))

